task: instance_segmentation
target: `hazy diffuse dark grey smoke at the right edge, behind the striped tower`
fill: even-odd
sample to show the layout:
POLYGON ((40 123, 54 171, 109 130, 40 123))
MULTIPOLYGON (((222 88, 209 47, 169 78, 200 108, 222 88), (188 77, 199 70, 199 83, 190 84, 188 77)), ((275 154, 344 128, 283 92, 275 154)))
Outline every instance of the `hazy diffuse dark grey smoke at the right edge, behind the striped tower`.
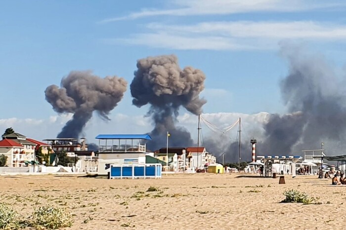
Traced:
POLYGON ((281 93, 291 114, 270 116, 259 148, 266 154, 301 153, 319 148, 322 141, 336 144, 329 150, 341 148, 346 134, 345 84, 320 55, 292 45, 284 45, 281 53, 289 63, 281 93))

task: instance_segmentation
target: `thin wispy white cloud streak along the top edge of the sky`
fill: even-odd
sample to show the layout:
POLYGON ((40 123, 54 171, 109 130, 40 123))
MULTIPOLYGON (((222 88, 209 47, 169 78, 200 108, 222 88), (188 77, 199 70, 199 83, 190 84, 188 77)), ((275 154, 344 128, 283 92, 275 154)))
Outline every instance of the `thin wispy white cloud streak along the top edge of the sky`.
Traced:
POLYGON ((101 23, 151 16, 226 15, 246 12, 296 12, 316 9, 340 9, 342 0, 175 0, 173 8, 142 9, 122 17, 108 18, 101 23))

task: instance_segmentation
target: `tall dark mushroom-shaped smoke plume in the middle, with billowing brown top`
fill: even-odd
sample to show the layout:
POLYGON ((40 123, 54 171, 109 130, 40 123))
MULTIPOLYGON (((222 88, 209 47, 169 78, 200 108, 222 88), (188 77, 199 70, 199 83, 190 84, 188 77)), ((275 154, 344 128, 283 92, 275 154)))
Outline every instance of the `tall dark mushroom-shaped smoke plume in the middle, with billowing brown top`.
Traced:
POLYGON ((170 146, 192 146, 190 133, 175 126, 180 107, 194 115, 202 112, 207 102, 199 97, 204 89, 205 75, 192 67, 179 68, 174 55, 156 56, 137 61, 137 70, 130 84, 132 104, 141 107, 150 104, 148 115, 153 118, 153 140, 148 148, 156 150, 166 143, 167 131, 171 133, 170 146))

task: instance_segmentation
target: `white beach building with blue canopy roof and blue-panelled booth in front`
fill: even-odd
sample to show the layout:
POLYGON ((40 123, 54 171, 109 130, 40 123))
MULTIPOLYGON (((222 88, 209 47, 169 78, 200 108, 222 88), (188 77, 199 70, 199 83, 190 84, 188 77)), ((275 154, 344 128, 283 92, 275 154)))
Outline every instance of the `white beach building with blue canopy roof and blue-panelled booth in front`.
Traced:
POLYGON ((166 162, 146 152, 148 134, 100 134, 98 151, 98 175, 113 178, 161 178, 162 165, 166 162))

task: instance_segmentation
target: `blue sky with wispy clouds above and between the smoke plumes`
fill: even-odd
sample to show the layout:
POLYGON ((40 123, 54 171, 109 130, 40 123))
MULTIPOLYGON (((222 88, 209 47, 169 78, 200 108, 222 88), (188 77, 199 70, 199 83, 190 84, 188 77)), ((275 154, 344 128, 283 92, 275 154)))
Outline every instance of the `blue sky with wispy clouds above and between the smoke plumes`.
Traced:
MULTIPOLYGON (((342 70, 345 12, 342 0, 3 0, 0 127, 32 133, 28 122, 54 120, 44 90, 70 71, 117 75, 130 85, 137 59, 162 54, 206 74, 204 113, 283 114, 279 82, 288 66, 279 44, 303 44, 342 70)), ((146 111, 131 105, 129 88, 112 115, 146 111)))

